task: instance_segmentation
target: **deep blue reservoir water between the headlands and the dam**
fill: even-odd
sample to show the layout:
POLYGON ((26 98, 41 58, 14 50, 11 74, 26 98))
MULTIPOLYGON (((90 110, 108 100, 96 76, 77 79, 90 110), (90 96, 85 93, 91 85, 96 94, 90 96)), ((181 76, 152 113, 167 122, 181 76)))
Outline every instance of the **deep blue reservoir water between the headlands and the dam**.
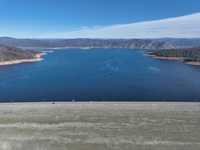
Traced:
POLYGON ((57 50, 0 67, 0 101, 199 101, 200 66, 141 50, 57 50))

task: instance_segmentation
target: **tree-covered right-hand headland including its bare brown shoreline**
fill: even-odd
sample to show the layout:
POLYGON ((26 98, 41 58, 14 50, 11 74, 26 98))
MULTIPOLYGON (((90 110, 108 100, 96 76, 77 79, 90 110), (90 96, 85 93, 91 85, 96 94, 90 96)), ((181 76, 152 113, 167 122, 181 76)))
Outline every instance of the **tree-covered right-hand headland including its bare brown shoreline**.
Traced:
POLYGON ((157 59, 176 60, 189 65, 200 65, 200 47, 157 50, 149 52, 146 56, 157 59))

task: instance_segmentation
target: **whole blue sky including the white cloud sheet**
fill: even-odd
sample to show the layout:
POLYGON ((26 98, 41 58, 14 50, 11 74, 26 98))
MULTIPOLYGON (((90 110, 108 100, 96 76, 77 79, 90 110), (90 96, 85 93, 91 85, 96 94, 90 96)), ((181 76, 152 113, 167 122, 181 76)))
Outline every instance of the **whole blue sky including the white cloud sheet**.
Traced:
POLYGON ((200 38, 200 0, 0 0, 0 36, 200 38))

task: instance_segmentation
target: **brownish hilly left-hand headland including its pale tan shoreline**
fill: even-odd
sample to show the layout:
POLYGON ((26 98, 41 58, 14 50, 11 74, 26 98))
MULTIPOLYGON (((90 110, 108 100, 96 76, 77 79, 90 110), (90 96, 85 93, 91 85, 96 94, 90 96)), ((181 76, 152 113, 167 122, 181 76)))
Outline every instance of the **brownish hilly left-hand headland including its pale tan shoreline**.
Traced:
POLYGON ((43 60, 44 52, 36 50, 22 50, 8 45, 0 45, 0 66, 19 64, 23 62, 37 62, 43 60))

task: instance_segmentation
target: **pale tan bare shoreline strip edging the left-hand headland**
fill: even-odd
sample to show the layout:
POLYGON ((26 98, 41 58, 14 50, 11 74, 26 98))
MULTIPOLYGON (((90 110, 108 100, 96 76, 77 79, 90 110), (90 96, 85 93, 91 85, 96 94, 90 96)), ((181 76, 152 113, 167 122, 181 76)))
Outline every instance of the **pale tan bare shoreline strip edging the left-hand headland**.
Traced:
POLYGON ((43 52, 40 54, 36 54, 35 58, 31 58, 31 59, 17 59, 17 60, 11 60, 11 61, 3 61, 3 62, 0 62, 0 66, 29 63, 29 62, 39 62, 39 61, 44 60, 43 58, 41 58, 43 55, 46 55, 46 53, 43 52))

